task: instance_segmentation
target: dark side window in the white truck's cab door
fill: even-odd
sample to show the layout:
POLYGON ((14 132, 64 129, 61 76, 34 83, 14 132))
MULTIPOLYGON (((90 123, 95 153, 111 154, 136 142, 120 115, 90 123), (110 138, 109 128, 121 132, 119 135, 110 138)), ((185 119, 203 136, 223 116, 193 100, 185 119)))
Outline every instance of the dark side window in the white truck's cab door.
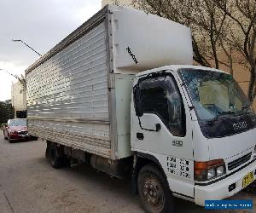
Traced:
POLYGON ((172 76, 145 79, 140 94, 143 113, 158 115, 172 135, 186 134, 183 100, 172 76))

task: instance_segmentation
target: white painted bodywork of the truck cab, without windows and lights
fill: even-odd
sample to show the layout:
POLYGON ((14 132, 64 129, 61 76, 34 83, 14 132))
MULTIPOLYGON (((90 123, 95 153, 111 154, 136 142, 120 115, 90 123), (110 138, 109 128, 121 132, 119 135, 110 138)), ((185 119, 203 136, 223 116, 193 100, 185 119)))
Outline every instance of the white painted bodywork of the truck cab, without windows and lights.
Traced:
MULTIPOLYGON (((174 196, 180 196, 181 193, 185 196, 189 196, 189 200, 194 200, 195 204, 204 205, 205 199, 225 199, 232 196, 235 193, 241 191, 241 182, 244 176, 249 171, 256 170, 256 164, 250 164, 244 169, 235 172, 233 175, 210 184, 205 187, 195 185, 194 181, 194 161, 209 161, 213 159, 224 159, 227 174, 234 172, 241 168, 248 162, 256 158, 252 154, 251 158, 244 164, 237 166, 233 170, 228 170, 228 164, 237 158, 241 158, 247 153, 253 153, 254 146, 256 145, 255 135, 256 129, 248 130, 247 132, 226 136, 222 138, 207 139, 201 133, 200 126, 197 122, 194 110, 189 110, 189 106, 192 106, 189 101, 189 96, 185 89, 183 89, 180 78, 177 76, 177 70, 180 68, 197 68, 203 70, 209 70, 213 72, 222 72, 216 69, 210 69, 202 66, 163 66, 160 68, 148 70, 145 72, 137 73, 134 85, 139 78, 143 78, 152 72, 159 72, 166 70, 166 72, 172 73, 176 78, 178 88, 181 91, 183 97, 183 103, 186 111, 186 127, 187 134, 183 138, 173 136, 169 130, 166 129, 165 124, 162 123, 160 118, 154 114, 144 113, 141 117, 142 126, 145 129, 155 129, 155 124, 161 125, 159 132, 150 132, 142 130, 138 124, 137 116, 134 112, 133 98, 131 99, 131 149, 140 153, 148 153, 154 158, 157 158, 160 162, 163 170, 166 173, 167 181, 174 196), (192 119, 191 119, 192 118, 192 119), (144 140, 137 140, 136 133, 142 132, 144 140), (193 137, 191 133, 193 132, 193 137), (172 146, 172 141, 183 141, 183 147, 172 146), (176 163, 175 170, 172 170, 172 162, 170 158, 179 162, 180 159, 189 161, 189 175, 192 179, 183 176, 183 170, 177 168, 179 163, 176 163), (168 164, 166 164, 166 161, 168 164), (170 166, 170 163, 172 164, 170 166), (172 172, 170 172, 172 170, 172 172), (228 187, 230 184, 236 182, 236 189, 229 192, 228 187), (195 192, 195 193, 194 193, 195 192), (177 193, 177 195, 176 195, 177 193)), ((254 177, 255 179, 255 177, 254 177)), ((209 181, 205 181, 206 183, 209 181)))

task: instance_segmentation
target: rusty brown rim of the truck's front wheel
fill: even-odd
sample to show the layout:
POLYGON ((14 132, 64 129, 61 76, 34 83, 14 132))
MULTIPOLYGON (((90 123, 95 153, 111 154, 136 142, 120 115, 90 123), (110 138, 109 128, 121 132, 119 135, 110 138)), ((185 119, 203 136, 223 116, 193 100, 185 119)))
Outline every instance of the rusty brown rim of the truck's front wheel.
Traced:
POLYGON ((154 210, 161 210, 165 203, 165 193, 160 181, 155 177, 146 177, 143 183, 143 199, 154 210))

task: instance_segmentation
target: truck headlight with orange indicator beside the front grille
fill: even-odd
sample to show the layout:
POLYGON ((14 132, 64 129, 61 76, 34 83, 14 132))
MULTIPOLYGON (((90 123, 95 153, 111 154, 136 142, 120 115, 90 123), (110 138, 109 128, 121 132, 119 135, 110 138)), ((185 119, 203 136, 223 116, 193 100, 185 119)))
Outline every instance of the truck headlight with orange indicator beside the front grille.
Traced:
POLYGON ((194 162, 195 181, 208 181, 225 174, 224 159, 194 162))

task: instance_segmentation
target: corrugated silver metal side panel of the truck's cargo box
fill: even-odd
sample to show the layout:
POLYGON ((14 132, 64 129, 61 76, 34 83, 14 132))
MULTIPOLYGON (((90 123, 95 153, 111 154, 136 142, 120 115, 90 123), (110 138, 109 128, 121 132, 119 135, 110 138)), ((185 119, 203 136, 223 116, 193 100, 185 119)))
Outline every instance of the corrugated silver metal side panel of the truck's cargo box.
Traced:
POLYGON ((105 22, 36 66, 26 80, 32 135, 109 157, 105 22))

